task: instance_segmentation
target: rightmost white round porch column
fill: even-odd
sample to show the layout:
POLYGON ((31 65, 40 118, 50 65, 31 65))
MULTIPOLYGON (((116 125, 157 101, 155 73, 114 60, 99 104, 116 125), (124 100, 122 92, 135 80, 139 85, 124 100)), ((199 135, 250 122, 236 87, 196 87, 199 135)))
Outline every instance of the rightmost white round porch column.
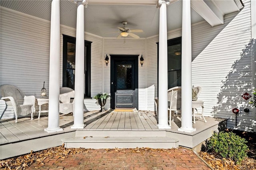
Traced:
POLYGON ((192 47, 190 0, 182 0, 181 59, 181 127, 179 131, 194 132, 192 127, 192 47))

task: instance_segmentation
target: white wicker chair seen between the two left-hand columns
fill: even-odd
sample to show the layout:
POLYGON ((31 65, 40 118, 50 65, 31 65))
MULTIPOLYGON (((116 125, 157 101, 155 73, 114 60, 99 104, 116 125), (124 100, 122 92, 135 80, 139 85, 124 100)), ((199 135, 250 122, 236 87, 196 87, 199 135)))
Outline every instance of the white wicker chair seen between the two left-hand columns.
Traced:
MULTIPOLYGON (((69 87, 60 88, 60 113, 74 113, 75 91, 69 87)), ((74 116, 74 114, 73 114, 74 116)))

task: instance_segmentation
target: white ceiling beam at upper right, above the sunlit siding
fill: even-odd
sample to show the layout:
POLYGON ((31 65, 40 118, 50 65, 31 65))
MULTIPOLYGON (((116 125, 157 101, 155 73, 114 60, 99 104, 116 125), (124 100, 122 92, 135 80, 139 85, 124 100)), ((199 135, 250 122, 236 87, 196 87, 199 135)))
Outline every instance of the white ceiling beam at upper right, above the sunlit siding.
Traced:
POLYGON ((212 1, 192 0, 191 7, 211 26, 224 24, 224 13, 212 1))

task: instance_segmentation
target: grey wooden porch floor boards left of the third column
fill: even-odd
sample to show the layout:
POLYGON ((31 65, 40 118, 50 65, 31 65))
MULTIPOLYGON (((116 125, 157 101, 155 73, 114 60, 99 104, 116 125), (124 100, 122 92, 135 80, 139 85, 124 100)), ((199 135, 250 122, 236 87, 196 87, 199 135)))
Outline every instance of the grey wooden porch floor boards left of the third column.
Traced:
MULTIPOLYGON (((72 132, 76 129, 70 127, 74 123, 72 114, 60 115, 60 128, 62 131, 48 133, 44 131, 48 127, 48 117, 41 116, 37 119, 28 117, 6 119, 0 121, 0 145, 24 140, 31 140, 54 134, 72 132)), ((90 111, 84 113, 84 123, 86 127, 82 130, 159 130, 156 119, 150 113, 139 111, 134 112, 114 112, 114 111, 90 111)))

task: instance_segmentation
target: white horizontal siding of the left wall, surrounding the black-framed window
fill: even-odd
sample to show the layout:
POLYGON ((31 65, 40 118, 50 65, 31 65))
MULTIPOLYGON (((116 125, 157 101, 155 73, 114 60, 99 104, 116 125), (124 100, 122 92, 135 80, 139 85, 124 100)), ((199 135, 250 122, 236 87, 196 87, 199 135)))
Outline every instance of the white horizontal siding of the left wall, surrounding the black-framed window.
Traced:
MULTIPOLYGON (((50 22, 2 7, 0 14, 0 84, 16 85, 26 95, 40 97, 45 81, 48 96, 50 22)), ((60 34, 60 87, 62 87, 62 34, 76 37, 76 30, 60 26, 60 34)), ((91 93, 93 96, 102 89, 103 45, 101 38, 91 34, 85 33, 85 40, 92 42, 91 93)), ((84 103, 89 111, 98 110, 93 99, 85 99, 84 103), (91 102, 88 102, 89 100, 91 102)), ((11 107, 8 107, 2 119, 10 117, 14 118, 14 112, 11 107)))

